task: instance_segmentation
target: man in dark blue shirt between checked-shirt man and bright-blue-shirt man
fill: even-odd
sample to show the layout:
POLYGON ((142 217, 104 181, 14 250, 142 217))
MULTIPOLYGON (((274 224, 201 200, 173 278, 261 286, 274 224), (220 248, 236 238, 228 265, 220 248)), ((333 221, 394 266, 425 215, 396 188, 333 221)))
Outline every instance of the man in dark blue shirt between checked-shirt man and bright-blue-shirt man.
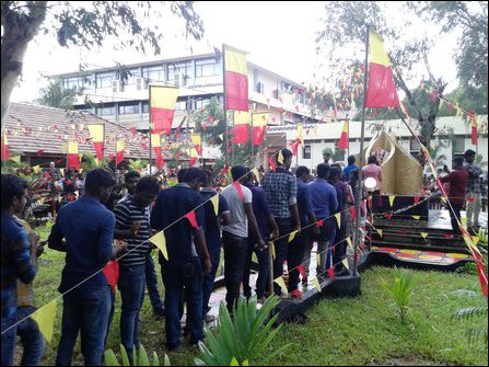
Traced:
MULTIPOLYGON (((301 218, 301 233, 296 234, 294 240, 289 245, 289 252, 287 254, 287 265, 289 267, 289 293, 294 298, 302 298, 302 294, 298 288, 299 285, 299 269, 298 266, 304 260, 305 251, 308 244, 312 246, 312 233, 313 231, 318 234, 318 228, 314 226, 314 229, 310 226, 316 221, 316 216, 311 205, 311 192, 307 186, 307 181, 311 175, 310 170, 304 167, 298 167, 295 176, 298 177, 298 207, 299 217, 301 218), (304 227, 307 227, 304 229, 304 227)), ((307 249, 311 256, 311 249, 307 249)), ((307 279, 303 278, 303 283, 307 284, 307 279)))

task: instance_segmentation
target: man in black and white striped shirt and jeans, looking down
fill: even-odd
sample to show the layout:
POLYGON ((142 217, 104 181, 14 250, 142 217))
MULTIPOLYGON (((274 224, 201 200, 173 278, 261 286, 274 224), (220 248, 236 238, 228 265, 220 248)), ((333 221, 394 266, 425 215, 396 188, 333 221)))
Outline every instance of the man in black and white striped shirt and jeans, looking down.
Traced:
POLYGON ((154 176, 142 177, 133 196, 117 204, 115 237, 126 239, 128 245, 119 256, 119 280, 123 300, 120 339, 132 364, 132 351, 139 348, 139 310, 144 299, 145 255, 151 249, 150 213, 148 206, 156 197, 160 186, 154 176))

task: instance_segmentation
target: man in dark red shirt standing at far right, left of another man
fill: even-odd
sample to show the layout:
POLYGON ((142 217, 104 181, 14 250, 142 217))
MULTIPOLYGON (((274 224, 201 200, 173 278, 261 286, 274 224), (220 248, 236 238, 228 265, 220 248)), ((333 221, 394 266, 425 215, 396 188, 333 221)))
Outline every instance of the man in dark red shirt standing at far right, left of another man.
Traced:
POLYGON ((442 183, 450 183, 449 200, 452 209, 452 229, 454 234, 462 234, 458 227, 461 210, 465 203, 465 187, 467 186, 468 172, 464 169, 464 158, 455 157, 452 161, 453 171, 440 179, 442 183))

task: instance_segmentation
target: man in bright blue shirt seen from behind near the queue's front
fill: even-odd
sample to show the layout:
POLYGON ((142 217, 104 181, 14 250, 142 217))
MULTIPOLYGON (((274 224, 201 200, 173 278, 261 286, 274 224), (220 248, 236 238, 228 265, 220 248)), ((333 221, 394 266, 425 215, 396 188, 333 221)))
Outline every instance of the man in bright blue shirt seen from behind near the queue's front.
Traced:
MULTIPOLYGON (((336 190, 328 182, 329 165, 321 163, 317 165, 317 179, 308 184, 311 192, 311 204, 317 220, 326 219, 338 210, 338 198, 336 190)), ((324 278, 326 269, 330 266, 329 245, 334 244, 336 234, 336 219, 328 218, 321 227, 321 233, 317 240, 317 255, 319 265, 317 266, 317 277, 324 278), (327 253, 326 253, 327 252, 327 253)))

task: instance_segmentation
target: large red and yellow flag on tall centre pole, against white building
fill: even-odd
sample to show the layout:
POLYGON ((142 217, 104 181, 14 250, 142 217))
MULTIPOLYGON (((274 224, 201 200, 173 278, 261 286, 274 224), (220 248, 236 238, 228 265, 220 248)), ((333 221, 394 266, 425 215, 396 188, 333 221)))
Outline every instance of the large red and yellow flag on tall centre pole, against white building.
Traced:
POLYGON ((248 69, 246 54, 224 46, 225 107, 248 111, 248 69))

